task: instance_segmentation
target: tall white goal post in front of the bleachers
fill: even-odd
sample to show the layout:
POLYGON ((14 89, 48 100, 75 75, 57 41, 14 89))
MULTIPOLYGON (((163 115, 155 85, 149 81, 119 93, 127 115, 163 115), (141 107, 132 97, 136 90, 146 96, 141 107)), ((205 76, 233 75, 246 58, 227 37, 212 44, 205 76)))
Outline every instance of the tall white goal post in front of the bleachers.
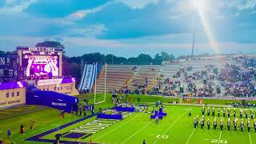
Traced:
MULTIPOLYGON (((97 69, 98 69, 98 63, 96 62, 96 66, 95 66, 96 68, 95 68, 95 70, 96 70, 96 75, 95 75, 95 79, 94 79, 94 86, 95 86, 95 90, 94 90, 94 105, 97 105, 97 104, 99 104, 99 103, 102 103, 102 102, 106 102, 106 68, 107 68, 107 65, 106 65, 106 63, 105 63, 105 74, 104 74, 104 76, 103 76, 103 78, 104 78, 104 91, 103 91, 103 94, 104 94, 104 99, 102 100, 102 101, 97 101, 96 99, 97 99, 97 80, 98 80, 98 75, 97 75, 97 69)), ((104 66, 102 67, 102 68, 104 68, 104 66)), ((101 94, 100 94, 101 95, 101 94)), ((100 96, 99 95, 99 96, 100 96)))

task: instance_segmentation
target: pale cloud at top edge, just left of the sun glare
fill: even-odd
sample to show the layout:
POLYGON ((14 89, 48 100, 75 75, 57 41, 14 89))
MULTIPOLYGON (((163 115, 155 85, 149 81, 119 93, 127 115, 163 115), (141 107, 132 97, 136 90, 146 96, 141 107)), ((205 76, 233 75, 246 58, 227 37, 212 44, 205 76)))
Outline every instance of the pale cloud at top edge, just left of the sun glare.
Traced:
POLYGON ((116 2, 122 2, 132 9, 142 9, 148 4, 156 4, 159 0, 116 0, 116 2))

